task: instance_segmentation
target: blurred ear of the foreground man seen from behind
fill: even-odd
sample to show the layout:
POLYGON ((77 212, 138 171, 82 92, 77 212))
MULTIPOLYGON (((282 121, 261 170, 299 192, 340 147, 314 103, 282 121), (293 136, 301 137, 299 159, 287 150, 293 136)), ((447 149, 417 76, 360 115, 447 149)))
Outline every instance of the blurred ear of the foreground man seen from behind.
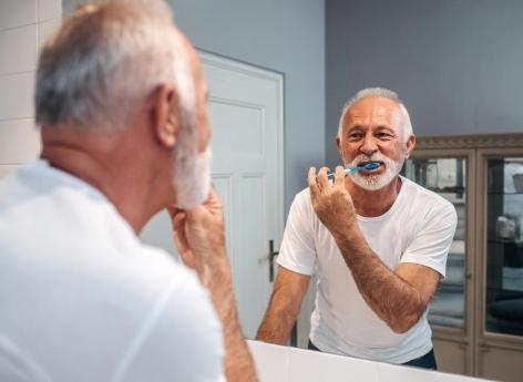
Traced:
POLYGON ((151 117, 160 144, 173 148, 181 126, 178 96, 170 84, 161 84, 153 95, 151 117))

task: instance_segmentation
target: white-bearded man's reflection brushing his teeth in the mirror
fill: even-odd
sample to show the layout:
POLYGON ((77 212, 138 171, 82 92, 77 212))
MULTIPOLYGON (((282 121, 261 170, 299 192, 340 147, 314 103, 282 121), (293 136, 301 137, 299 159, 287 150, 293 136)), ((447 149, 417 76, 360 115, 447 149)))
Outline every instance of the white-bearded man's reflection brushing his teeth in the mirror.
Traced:
POLYGON ((274 293, 257 338, 285 343, 318 272, 309 348, 435 369, 427 307, 444 277, 453 206, 399 176, 416 143, 407 109, 384 89, 345 106, 337 137, 345 177, 309 171, 285 229, 274 293))

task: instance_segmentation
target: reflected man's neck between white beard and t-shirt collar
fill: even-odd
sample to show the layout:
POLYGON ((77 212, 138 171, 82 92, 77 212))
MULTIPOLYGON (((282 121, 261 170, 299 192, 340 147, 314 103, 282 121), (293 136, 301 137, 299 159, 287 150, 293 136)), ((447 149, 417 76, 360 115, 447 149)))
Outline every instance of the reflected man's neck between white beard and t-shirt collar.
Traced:
POLYGON ((401 179, 397 176, 383 188, 368 190, 346 177, 345 186, 352 197, 356 213, 359 216, 377 217, 387 213, 394 204, 401 189, 401 179))

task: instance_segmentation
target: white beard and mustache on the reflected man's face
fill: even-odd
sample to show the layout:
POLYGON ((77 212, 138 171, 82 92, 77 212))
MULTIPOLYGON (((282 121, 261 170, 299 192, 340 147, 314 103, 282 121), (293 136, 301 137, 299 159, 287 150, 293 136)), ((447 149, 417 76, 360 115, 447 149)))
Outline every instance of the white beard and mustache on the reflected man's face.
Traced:
POLYGON ((399 161, 393 161, 380 153, 375 153, 370 157, 360 154, 349 165, 357 166, 361 162, 382 162, 386 166, 384 174, 369 174, 365 175, 361 172, 350 174, 350 178, 361 188, 368 190, 378 190, 390 184, 400 173, 403 166, 404 156, 401 155, 399 161))

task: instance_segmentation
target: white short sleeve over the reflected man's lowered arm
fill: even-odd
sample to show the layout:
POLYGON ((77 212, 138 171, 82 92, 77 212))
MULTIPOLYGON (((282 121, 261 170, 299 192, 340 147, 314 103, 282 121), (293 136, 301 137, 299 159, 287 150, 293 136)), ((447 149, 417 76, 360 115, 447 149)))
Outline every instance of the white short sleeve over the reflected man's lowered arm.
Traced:
POLYGON ((277 262, 291 271, 312 275, 316 266, 314 219, 309 190, 299 193, 289 210, 277 262))

